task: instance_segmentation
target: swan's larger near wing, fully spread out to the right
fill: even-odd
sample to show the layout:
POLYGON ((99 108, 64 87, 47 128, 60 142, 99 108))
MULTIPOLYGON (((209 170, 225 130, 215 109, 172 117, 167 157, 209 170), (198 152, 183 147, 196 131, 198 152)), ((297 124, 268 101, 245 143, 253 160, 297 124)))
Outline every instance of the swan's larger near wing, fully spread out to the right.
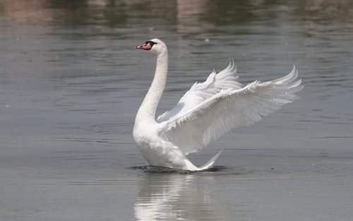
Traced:
POLYGON ((298 97, 303 88, 295 66, 283 78, 255 81, 239 90, 221 90, 213 97, 160 124, 160 136, 193 153, 237 126, 247 126, 298 97))

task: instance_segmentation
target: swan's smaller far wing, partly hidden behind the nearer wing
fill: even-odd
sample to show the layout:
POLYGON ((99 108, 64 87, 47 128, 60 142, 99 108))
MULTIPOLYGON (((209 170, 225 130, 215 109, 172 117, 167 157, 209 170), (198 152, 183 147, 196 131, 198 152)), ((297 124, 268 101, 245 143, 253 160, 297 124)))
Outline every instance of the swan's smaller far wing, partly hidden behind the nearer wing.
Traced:
POLYGON ((239 77, 236 76, 237 67, 234 64, 234 60, 229 59, 229 65, 220 73, 210 73, 207 80, 203 83, 194 83, 190 90, 181 97, 178 104, 168 112, 160 115, 157 118, 157 122, 167 121, 171 117, 176 117, 184 114, 184 112, 193 109, 198 104, 201 104, 205 100, 209 99, 213 95, 216 95, 221 90, 232 88, 232 90, 238 90, 243 88, 243 85, 238 82, 239 77))

